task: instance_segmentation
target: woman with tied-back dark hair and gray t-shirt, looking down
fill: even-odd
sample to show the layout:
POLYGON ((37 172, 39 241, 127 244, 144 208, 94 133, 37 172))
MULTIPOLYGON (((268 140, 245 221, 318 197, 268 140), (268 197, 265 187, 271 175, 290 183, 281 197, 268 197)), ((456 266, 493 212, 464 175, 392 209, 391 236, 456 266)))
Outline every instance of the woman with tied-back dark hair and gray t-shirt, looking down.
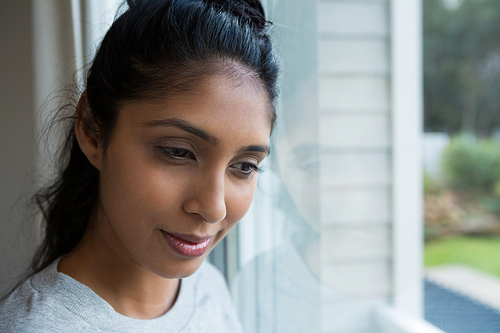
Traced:
POLYGON ((45 238, 2 332, 237 332, 204 259, 247 211, 275 121, 258 0, 129 1, 36 198, 45 238))

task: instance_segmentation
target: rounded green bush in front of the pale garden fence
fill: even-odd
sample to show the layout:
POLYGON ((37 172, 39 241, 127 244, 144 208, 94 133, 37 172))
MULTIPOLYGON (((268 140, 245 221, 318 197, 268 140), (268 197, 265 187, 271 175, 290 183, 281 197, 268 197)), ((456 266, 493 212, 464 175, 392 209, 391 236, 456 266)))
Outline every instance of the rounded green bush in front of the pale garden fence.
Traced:
POLYGON ((450 187, 490 194, 500 180, 500 146, 492 140, 454 137, 443 151, 442 167, 450 187))

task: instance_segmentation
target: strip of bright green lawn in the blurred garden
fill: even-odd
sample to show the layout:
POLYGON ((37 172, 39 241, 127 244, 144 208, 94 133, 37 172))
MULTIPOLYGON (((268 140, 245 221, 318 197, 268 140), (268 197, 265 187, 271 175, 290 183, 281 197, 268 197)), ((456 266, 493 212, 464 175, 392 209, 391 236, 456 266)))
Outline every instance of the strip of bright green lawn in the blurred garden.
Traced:
POLYGON ((464 264, 500 278, 500 238, 458 236, 426 243, 425 267, 446 264, 464 264))

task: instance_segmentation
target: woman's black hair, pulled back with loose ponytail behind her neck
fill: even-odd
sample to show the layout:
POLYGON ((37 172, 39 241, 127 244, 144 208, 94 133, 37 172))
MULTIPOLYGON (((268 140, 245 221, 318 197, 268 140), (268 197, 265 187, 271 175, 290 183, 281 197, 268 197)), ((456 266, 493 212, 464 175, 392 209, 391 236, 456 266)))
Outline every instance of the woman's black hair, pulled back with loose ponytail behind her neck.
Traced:
MULTIPOLYGON (((278 63, 259 0, 143 0, 112 24, 88 71, 85 126, 104 147, 120 107, 131 100, 188 91, 204 76, 250 75, 268 94, 275 122, 278 63)), ((32 259, 36 273, 82 239, 97 202, 99 172, 71 126, 56 181, 35 195, 44 239, 32 259)))

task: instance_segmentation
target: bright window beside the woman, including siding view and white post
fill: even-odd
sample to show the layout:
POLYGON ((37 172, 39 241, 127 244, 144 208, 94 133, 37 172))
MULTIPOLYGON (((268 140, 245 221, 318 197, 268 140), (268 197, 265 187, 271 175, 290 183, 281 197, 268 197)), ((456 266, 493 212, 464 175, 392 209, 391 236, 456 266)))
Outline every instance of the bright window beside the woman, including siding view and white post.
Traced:
POLYGON ((419 1, 267 1, 274 150, 228 280, 247 332, 437 332, 422 315, 419 1))

